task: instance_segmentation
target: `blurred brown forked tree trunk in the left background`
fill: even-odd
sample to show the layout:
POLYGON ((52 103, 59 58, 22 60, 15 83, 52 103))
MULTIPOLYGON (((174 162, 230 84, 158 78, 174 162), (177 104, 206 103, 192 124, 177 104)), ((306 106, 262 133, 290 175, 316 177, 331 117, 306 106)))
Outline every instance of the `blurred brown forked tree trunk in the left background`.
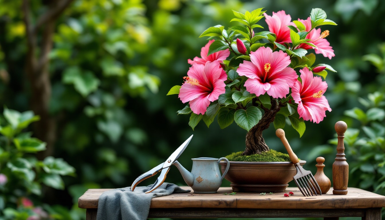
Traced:
POLYGON ((40 160, 54 154, 56 140, 56 121, 54 116, 49 114, 51 82, 48 56, 52 49, 56 19, 72 1, 47 1, 47 11, 32 24, 35 19, 32 19, 30 2, 23 0, 22 9, 27 36, 25 74, 30 83, 31 109, 35 115, 40 116, 40 121, 33 123, 33 134, 47 143, 47 150, 41 151, 38 155, 40 160), (38 38, 41 42, 38 42, 38 38))

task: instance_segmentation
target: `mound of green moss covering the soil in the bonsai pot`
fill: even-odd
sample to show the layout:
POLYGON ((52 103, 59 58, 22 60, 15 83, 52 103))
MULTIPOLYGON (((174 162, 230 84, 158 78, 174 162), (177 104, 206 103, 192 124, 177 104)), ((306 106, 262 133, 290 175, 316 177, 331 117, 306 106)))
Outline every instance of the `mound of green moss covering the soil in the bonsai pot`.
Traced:
POLYGON ((290 157, 288 154, 281 153, 275 150, 270 149, 267 152, 262 152, 261 154, 254 154, 249 156, 242 156, 243 151, 232 153, 231 155, 227 155, 226 158, 230 161, 249 161, 249 162, 282 162, 288 161, 290 162, 290 157))

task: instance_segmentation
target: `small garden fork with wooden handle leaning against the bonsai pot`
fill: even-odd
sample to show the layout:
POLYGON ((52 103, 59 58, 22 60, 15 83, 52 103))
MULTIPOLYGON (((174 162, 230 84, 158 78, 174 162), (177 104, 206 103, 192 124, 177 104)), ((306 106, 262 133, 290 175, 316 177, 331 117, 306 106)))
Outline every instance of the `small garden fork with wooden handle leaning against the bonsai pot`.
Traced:
POLYGON ((275 131, 275 134, 278 136, 278 138, 281 139, 283 145, 285 146, 286 150, 289 153, 290 160, 294 164, 297 174, 293 177, 295 184, 300 189, 303 196, 317 196, 322 195, 321 188, 318 185, 317 181, 315 180, 313 174, 311 174, 310 171, 305 170, 300 165, 300 160, 298 160, 297 155, 293 152, 293 150, 290 147, 290 144, 288 140, 285 137, 285 131, 278 128, 275 131))

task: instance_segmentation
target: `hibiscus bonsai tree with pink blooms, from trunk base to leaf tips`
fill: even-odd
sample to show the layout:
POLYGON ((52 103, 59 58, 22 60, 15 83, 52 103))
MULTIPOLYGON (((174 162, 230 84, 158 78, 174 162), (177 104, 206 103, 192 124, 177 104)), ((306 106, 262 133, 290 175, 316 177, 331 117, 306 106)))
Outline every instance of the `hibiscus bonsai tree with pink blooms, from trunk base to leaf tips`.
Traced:
POLYGON ((220 128, 235 121, 248 131, 242 155, 269 151, 262 132, 271 123, 284 128, 286 119, 298 131, 305 132, 304 121, 320 123, 331 111, 324 93, 327 64, 316 64, 316 54, 331 59, 334 50, 325 39, 328 30, 320 26, 336 25, 326 13, 313 8, 306 20, 291 21, 285 11, 268 15, 263 8, 252 12, 234 11, 235 25, 206 29, 199 37, 208 37, 201 57, 189 59, 191 67, 181 86, 167 95, 179 94, 186 107, 178 114, 191 114, 189 125, 203 120, 209 126, 217 118, 220 128), (269 31, 257 24, 262 18, 269 31))

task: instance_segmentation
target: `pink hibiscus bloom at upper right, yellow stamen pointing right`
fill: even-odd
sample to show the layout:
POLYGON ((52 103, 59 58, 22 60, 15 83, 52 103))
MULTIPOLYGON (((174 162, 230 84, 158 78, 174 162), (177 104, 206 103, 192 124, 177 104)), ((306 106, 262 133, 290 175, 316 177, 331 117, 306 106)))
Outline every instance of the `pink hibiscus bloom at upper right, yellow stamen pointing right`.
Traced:
MULTIPOLYGON (((308 17, 307 20, 301 20, 298 19, 302 24, 305 25, 305 30, 309 31, 311 29, 311 20, 310 17, 308 17)), ((305 50, 314 49, 316 54, 322 54, 324 57, 328 57, 331 59, 331 57, 334 57, 334 50, 330 46, 330 43, 328 40, 325 39, 329 35, 329 31, 325 30, 321 33, 321 29, 313 29, 309 32, 309 34, 306 36, 307 39, 310 39, 309 43, 312 43, 316 45, 316 47, 311 47, 307 44, 300 44, 299 47, 303 48, 305 50)))

